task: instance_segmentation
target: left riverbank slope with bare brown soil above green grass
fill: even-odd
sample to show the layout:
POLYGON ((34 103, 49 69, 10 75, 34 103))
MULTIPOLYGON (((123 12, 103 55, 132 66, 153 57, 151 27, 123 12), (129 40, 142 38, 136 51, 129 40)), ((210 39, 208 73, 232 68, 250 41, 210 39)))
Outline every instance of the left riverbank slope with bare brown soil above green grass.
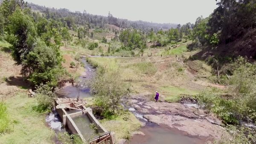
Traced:
POLYGON ((47 112, 40 113, 36 99, 28 98, 27 83, 9 46, 0 41, 0 144, 52 144, 54 131, 45 122, 47 112))

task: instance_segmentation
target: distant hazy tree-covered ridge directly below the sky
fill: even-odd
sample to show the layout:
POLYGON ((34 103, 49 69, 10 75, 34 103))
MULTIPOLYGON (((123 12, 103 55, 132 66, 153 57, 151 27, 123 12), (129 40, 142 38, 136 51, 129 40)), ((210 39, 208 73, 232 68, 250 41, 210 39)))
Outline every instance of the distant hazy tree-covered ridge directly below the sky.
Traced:
POLYGON ((88 14, 86 10, 81 13, 80 11, 71 12, 68 9, 61 8, 47 8, 44 6, 38 6, 33 3, 28 3, 28 6, 33 10, 41 11, 47 15, 48 18, 58 19, 63 18, 68 21, 69 27, 77 25, 88 25, 89 27, 100 27, 105 28, 106 24, 116 25, 120 28, 137 28, 142 31, 148 31, 153 28, 155 31, 162 29, 175 28, 177 24, 160 24, 160 23, 149 23, 144 21, 130 21, 125 19, 119 19, 114 17, 111 13, 108 17, 88 14), (50 14, 51 13, 51 14, 50 14))

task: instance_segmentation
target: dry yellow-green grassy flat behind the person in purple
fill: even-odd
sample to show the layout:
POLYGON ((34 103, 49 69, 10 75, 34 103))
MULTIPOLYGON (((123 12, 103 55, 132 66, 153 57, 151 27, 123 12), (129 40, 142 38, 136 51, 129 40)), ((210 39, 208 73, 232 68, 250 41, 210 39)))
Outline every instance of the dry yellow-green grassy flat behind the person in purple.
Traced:
POLYGON ((119 69, 120 81, 130 85, 131 93, 159 91, 161 99, 177 102, 182 95, 196 95, 205 87, 194 83, 186 65, 174 57, 87 58, 94 67, 119 69), (191 82, 192 81, 192 82, 191 82), (193 85, 191 85, 191 83, 193 85))

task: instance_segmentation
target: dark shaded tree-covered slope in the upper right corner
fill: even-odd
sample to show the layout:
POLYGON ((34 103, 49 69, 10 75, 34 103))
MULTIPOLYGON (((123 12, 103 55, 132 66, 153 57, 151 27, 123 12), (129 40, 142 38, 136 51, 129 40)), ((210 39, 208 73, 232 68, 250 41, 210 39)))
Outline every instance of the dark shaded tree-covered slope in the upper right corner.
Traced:
POLYGON ((217 5, 209 17, 196 20, 194 41, 212 54, 256 59, 256 1, 221 0, 217 5))

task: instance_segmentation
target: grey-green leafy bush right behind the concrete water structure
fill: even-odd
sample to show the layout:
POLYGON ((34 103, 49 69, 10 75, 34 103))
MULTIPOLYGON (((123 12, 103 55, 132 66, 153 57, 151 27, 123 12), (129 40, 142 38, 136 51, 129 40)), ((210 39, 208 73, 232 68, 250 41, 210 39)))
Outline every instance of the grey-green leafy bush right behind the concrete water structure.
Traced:
POLYGON ((122 97, 128 93, 127 88, 120 81, 118 70, 106 71, 98 67, 96 76, 90 83, 91 93, 96 96, 96 105, 103 108, 105 116, 119 113, 122 97))

